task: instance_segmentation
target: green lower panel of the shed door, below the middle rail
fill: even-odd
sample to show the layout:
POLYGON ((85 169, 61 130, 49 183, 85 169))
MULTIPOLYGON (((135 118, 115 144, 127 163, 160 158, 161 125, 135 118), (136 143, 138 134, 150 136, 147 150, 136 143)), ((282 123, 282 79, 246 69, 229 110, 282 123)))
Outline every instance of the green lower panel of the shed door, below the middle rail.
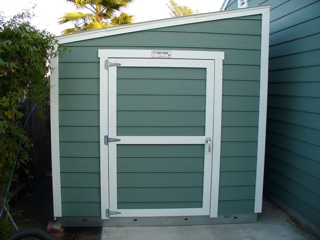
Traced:
POLYGON ((117 145, 118 209, 201 208, 204 145, 117 145))

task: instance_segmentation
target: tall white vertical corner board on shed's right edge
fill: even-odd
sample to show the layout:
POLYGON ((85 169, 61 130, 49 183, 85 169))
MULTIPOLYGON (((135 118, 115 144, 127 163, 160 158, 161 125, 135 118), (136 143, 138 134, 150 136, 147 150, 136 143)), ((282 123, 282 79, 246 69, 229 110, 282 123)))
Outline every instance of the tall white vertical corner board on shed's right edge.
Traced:
POLYGON ((258 126, 258 150, 257 150, 257 172, 256 191, 254 201, 254 212, 262 211, 262 191, 264 156, 266 144, 267 124, 267 95, 268 95, 268 62, 269 62, 269 8, 262 12, 261 26, 261 63, 260 63, 260 102, 259 102, 259 126, 258 126))

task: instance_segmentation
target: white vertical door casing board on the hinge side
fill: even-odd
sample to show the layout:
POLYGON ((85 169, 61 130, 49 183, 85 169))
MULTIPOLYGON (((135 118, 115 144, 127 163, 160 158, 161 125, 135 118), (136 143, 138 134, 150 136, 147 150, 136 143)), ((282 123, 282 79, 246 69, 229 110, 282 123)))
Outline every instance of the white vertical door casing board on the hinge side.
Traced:
MULTIPOLYGON (((108 70, 104 68, 106 57, 100 57, 100 116, 102 113, 108 116, 108 70)), ((106 209, 109 209, 109 158, 108 145, 104 144, 104 135, 108 135, 108 117, 100 117, 100 191, 101 191, 101 219, 106 217, 106 209), (102 121, 104 120, 104 121, 102 121)))

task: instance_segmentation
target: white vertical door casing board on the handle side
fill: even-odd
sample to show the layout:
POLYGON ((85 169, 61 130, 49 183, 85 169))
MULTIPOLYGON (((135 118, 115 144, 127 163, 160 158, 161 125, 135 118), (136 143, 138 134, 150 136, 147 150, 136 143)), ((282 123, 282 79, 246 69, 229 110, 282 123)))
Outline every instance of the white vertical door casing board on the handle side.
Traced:
POLYGON ((222 116, 222 60, 214 61, 214 107, 213 107, 213 139, 212 139, 212 173, 210 217, 218 217, 220 148, 221 148, 221 116, 222 116))

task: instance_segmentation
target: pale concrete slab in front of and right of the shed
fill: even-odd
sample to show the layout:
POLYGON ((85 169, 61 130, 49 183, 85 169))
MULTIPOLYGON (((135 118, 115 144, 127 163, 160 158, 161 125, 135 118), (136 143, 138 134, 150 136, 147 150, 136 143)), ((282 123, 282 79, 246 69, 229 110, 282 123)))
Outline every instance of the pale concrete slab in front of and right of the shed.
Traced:
POLYGON ((102 240, 305 240, 318 239, 263 199, 257 223, 169 227, 104 227, 102 240))

